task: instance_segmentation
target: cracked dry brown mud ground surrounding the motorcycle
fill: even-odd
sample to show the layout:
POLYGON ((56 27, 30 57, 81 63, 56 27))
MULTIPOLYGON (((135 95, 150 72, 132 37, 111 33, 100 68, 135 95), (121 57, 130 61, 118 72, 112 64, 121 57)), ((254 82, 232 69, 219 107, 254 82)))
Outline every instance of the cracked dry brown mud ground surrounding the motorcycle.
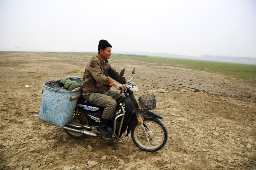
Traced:
POLYGON ((255 79, 111 58, 117 71, 126 67, 128 79, 136 65, 137 98, 155 93, 154 112, 164 117, 169 137, 164 148, 147 153, 130 135, 119 143, 73 139, 38 119, 42 84, 82 77, 89 56, 0 52, 0 58, 0 169, 256 169, 255 79))

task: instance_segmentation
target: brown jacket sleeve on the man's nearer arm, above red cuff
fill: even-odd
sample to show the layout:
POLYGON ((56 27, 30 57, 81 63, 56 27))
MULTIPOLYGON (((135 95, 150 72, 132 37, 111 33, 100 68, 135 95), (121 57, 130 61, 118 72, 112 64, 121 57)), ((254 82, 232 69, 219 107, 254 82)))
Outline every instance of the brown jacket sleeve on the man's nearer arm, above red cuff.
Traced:
POLYGON ((109 79, 102 73, 99 62, 97 60, 91 60, 89 63, 89 72, 97 82, 104 85, 109 79))

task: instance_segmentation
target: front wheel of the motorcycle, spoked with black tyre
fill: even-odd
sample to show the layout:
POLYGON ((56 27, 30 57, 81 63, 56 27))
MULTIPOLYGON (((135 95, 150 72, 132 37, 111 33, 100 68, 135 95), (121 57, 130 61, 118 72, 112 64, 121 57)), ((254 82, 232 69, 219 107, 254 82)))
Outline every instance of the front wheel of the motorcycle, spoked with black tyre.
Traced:
POLYGON ((168 132, 164 124, 158 119, 145 118, 143 126, 148 133, 149 141, 146 139, 140 124, 134 124, 131 133, 134 144, 147 152, 163 148, 168 139, 168 132))

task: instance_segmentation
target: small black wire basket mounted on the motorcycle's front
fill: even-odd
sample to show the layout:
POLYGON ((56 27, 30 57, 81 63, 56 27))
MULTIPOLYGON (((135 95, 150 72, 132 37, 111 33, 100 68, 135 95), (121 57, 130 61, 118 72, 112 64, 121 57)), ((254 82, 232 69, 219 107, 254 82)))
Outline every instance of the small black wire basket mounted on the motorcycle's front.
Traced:
POLYGON ((138 101, 143 110, 155 109, 155 106, 156 106, 155 94, 142 95, 139 97, 138 101))

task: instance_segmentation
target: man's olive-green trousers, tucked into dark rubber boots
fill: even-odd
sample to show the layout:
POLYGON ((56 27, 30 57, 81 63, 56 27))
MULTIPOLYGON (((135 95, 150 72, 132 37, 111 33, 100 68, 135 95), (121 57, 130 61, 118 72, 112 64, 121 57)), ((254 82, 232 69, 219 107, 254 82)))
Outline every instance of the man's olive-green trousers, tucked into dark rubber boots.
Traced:
POLYGON ((90 103, 105 107, 102 118, 111 118, 117 108, 117 103, 123 103, 124 94, 117 90, 104 91, 101 93, 82 93, 83 98, 90 103))

